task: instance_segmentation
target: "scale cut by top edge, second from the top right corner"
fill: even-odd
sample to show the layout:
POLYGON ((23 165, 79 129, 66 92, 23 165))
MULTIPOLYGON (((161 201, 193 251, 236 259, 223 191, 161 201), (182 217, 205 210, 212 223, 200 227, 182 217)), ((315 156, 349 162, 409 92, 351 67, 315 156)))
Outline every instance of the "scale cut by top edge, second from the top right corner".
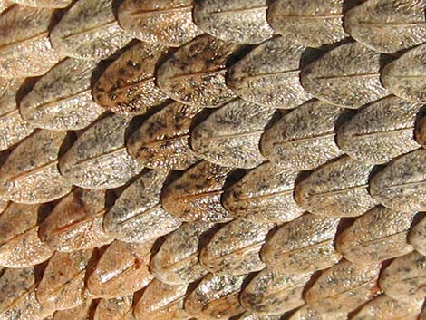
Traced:
POLYGON ((269 5, 269 24, 289 42, 319 47, 344 40, 344 0, 277 0, 269 5))

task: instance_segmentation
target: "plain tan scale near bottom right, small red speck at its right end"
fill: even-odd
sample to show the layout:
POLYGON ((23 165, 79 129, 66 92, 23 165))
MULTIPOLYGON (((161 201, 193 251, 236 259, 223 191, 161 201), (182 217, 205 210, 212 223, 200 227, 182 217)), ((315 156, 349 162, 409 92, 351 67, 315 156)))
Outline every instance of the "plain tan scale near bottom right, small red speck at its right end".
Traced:
POLYGON ((305 294, 306 303, 321 313, 351 312, 380 293, 380 269, 378 264, 342 260, 316 279, 305 294))

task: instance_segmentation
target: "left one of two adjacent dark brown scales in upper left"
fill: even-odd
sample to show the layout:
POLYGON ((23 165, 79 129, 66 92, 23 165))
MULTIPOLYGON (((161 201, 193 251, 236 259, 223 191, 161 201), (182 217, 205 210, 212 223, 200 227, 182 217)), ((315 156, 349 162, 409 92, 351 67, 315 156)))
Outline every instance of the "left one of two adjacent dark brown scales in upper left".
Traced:
POLYGON ((167 48, 134 44, 93 85, 93 99, 111 112, 138 114, 168 99, 155 84, 154 69, 167 48))

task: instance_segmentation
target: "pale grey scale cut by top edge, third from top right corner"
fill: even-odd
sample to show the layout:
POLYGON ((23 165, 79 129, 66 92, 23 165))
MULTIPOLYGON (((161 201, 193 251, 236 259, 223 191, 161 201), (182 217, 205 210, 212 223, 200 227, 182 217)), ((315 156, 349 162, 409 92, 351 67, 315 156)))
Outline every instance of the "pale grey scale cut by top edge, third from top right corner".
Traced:
POLYGON ((201 30, 218 39, 260 44, 274 34, 266 21, 266 9, 266 0, 201 0, 194 6, 193 15, 201 30))

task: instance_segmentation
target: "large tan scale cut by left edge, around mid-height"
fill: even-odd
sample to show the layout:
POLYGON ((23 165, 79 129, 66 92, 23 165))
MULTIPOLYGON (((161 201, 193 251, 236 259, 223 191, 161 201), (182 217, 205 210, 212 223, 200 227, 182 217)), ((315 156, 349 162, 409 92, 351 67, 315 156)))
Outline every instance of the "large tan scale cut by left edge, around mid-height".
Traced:
POLYGON ((0 198, 43 203, 71 191, 58 170, 58 155, 69 144, 66 131, 35 131, 21 141, 0 168, 0 198))

